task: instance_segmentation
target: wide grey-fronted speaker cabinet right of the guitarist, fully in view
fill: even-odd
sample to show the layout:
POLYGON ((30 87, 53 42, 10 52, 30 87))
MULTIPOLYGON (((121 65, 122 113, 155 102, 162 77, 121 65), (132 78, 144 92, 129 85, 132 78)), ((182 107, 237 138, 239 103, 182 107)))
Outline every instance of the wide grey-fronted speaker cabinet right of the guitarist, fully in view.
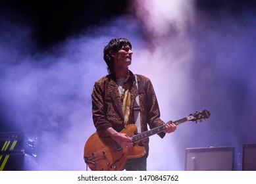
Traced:
POLYGON ((234 170, 234 147, 186 149, 186 171, 234 170))

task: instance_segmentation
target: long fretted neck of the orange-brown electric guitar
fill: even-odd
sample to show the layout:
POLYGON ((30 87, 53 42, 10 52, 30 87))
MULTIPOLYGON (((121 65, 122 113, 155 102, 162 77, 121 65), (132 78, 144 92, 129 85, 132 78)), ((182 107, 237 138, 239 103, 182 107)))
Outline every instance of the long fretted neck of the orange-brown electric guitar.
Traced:
MULTIPOLYGON (((179 124, 182 124, 184 122, 188 122, 190 120, 190 117, 187 116, 185 118, 181 118, 180 120, 176 120, 174 122, 172 122, 173 124, 175 124, 176 126, 178 126, 179 124)), ((145 139, 147 137, 150 137, 151 135, 155 135, 157 133, 161 133, 162 131, 165 131, 166 127, 165 127, 165 124, 162 125, 162 126, 159 126, 159 127, 155 127, 149 131, 144 131, 142 133, 139 133, 137 135, 134 135, 132 137, 134 143, 136 143, 137 141, 140 141, 142 139, 145 139)))

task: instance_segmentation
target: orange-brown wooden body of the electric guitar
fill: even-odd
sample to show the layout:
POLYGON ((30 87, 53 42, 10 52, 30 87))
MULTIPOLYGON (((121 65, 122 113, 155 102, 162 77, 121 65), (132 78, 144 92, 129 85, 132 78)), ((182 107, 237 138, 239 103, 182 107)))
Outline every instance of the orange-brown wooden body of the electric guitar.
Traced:
MULTIPOLYGON (((137 128, 128 125, 121 133, 134 136, 137 128)), ((144 147, 134 143, 132 148, 122 148, 109 135, 95 132, 84 146, 84 160, 92 171, 120 171, 129 158, 140 158, 145 154, 144 147)))

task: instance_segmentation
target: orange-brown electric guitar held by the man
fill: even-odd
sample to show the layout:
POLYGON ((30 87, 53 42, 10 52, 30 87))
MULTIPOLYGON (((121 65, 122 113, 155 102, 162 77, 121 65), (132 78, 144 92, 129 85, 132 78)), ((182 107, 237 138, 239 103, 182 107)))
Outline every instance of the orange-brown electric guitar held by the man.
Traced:
MULTIPOLYGON (((210 112, 202 110, 190 114, 173 123, 177 126, 184 122, 192 121, 195 123, 202 122, 209 118, 210 112)), ((88 164, 92 171, 120 171, 124 170, 124 166, 129 158, 140 158, 145 154, 144 147, 140 147, 138 142, 142 139, 165 131, 165 124, 136 134, 137 127, 134 124, 126 126, 121 133, 126 133, 133 139, 133 147, 122 148, 109 135, 103 132, 95 132, 86 141, 84 146, 84 161, 88 164)))

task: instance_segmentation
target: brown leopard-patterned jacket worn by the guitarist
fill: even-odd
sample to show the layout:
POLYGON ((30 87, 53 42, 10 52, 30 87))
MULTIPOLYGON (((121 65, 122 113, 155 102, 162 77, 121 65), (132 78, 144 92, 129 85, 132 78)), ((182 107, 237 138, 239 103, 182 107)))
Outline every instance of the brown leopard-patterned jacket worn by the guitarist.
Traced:
MULTIPOLYGON (((130 82, 131 86, 131 111, 128 124, 134 124, 134 111, 132 107, 139 93, 141 131, 143 132, 147 131, 147 124, 152 129, 165 123, 160 118, 159 105, 151 81, 145 76, 136 76, 138 78, 138 89, 134 74, 131 71, 129 80, 127 81, 130 82)), ((97 131, 104 131, 109 127, 113 127, 116 131, 124 129, 121 97, 119 95, 118 85, 113 76, 108 75, 95 82, 91 99, 93 123, 97 131)), ((161 132, 159 136, 163 138, 165 133, 161 132)), ((139 145, 145 147, 147 156, 149 152, 149 138, 140 141, 139 145)))

